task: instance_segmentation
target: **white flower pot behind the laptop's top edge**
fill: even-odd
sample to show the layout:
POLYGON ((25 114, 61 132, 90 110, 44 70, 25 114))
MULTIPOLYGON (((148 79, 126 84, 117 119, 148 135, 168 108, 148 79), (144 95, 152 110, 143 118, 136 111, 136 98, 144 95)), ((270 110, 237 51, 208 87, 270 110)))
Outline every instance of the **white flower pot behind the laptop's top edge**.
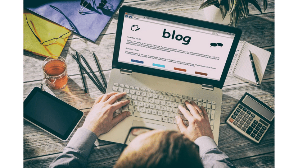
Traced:
MULTIPOLYGON (((206 0, 204 0, 204 2, 205 1, 206 0)), ((219 8, 215 7, 214 5, 204 8, 205 17, 208 21, 213 23, 223 24, 223 25, 228 25, 230 23, 230 15, 228 15, 228 12, 226 17, 223 20, 219 8)))

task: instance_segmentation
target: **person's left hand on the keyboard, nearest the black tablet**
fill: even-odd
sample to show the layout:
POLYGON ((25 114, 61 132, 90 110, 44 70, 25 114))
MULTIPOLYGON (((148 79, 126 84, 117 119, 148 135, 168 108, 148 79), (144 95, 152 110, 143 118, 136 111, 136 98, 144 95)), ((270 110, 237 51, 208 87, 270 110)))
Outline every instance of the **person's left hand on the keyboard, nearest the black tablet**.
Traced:
POLYGON ((89 129, 98 137, 100 134, 110 131, 122 119, 129 116, 130 112, 126 111, 113 117, 116 110, 129 104, 129 100, 116 102, 125 94, 125 92, 112 92, 99 96, 88 113, 82 128, 89 129))

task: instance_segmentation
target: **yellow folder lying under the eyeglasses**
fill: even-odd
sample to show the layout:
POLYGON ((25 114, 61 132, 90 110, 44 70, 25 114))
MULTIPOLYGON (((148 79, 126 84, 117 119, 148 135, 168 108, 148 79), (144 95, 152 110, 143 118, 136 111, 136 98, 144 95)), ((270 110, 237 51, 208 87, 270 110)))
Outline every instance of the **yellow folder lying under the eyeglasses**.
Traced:
POLYGON ((32 52, 36 55, 48 57, 52 55, 60 55, 68 37, 59 38, 55 43, 43 46, 30 30, 27 21, 33 30, 34 34, 41 40, 41 42, 58 38, 61 35, 69 32, 67 28, 48 20, 47 18, 35 14, 29 10, 24 9, 24 50, 32 52))

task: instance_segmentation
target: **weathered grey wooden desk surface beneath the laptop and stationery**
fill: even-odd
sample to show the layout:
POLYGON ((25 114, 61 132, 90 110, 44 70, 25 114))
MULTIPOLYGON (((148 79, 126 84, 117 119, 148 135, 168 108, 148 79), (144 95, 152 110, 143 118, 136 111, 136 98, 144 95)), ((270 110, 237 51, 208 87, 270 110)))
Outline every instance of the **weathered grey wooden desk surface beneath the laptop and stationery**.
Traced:
MULTIPOLYGON (((206 20, 203 10, 198 11, 202 2, 202 0, 124 0, 120 5, 129 5, 206 20)), ((102 93, 84 74, 88 87, 88 94, 84 94, 78 65, 70 54, 76 50, 83 54, 87 60, 93 60, 91 51, 94 51, 101 63, 105 80, 108 81, 111 71, 118 12, 119 8, 96 42, 92 42, 77 34, 70 36, 61 53, 61 56, 68 63, 68 84, 62 90, 47 90, 47 92, 85 113, 83 120, 77 128, 82 126, 95 99, 102 93)), ((259 87, 228 74, 223 87, 218 147, 230 157, 236 167, 269 168, 274 167, 274 124, 269 128, 268 133, 258 145, 247 140, 225 124, 228 114, 245 92, 257 97, 274 110, 274 1, 269 1, 268 8, 263 15, 252 7, 251 4, 249 12, 249 18, 240 20, 237 26, 243 32, 241 40, 246 40, 251 44, 270 51, 271 56, 262 84, 259 87)), ((24 51, 24 99, 34 86, 39 86, 39 81, 43 78, 41 65, 44 59, 44 57, 24 51)), ((89 61, 89 63, 93 70, 97 71, 94 61, 89 61)), ((99 76, 98 71, 96 74, 99 76)), ((68 141, 62 142, 24 120, 24 167, 48 167, 62 152, 67 143, 68 141)), ((113 167, 119 157, 120 147, 120 144, 97 139, 87 167, 113 167)))

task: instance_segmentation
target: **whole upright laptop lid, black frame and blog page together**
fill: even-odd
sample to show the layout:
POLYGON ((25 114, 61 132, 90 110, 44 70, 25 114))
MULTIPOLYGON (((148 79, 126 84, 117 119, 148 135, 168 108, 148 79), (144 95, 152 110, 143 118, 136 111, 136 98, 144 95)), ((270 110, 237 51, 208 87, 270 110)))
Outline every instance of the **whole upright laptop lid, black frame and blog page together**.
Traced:
POLYGON ((222 88, 241 29, 122 6, 112 68, 222 88))

